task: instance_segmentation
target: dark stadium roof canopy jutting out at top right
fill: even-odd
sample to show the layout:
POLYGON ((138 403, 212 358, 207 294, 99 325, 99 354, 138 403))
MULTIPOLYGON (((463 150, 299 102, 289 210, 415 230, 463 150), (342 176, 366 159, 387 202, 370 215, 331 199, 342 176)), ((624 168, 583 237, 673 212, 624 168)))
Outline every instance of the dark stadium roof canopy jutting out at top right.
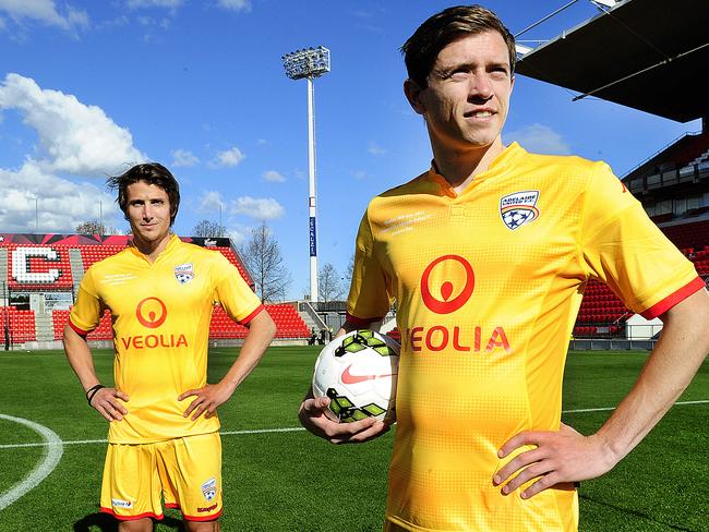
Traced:
POLYGON ((603 12, 522 55, 516 71, 581 93, 577 98, 706 121, 709 1, 593 3, 603 12))

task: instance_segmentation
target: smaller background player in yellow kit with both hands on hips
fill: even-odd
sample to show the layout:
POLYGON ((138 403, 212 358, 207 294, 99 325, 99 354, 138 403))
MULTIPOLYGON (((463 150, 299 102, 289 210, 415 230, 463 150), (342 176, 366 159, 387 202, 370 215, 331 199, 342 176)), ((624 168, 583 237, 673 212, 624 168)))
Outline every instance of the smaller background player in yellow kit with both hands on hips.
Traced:
POLYGON ((216 409, 259 363, 275 325, 224 255, 170 232, 180 193, 169 170, 137 165, 109 184, 118 189, 133 241, 88 268, 64 328, 67 358, 88 404, 110 422, 100 508, 121 532, 153 530, 163 501, 180 508, 188 531, 218 531, 216 409), (225 377, 207 384, 215 303, 249 334, 225 377), (86 343, 105 309, 113 324, 115 388, 100 384, 86 343))

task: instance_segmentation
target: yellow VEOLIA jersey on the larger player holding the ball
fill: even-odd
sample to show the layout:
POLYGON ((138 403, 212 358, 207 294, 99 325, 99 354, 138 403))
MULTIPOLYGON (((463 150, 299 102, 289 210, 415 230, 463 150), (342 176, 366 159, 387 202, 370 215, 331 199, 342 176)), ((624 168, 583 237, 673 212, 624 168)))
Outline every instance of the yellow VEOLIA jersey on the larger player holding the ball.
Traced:
MULTIPOLYGON (((589 278, 657 316, 704 287, 602 162, 513 144, 459 195, 430 170, 375 197, 348 319, 397 301, 402 350, 387 520, 413 531, 572 531, 572 486, 492 484, 521 431, 557 430, 568 338, 589 278)), ((396 527, 395 527, 396 528, 396 527)))

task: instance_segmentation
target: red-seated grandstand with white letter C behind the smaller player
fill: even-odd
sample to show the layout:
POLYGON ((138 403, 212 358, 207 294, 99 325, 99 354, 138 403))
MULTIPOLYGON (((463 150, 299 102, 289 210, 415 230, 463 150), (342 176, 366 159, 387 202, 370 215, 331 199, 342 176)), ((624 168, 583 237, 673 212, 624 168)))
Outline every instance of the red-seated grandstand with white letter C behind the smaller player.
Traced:
MULTIPOLYGON (((128 235, 0 233, 0 341, 4 349, 60 348, 84 273, 95 262, 129 245, 129 239, 128 235)), ((229 239, 182 240, 221 253, 253 289, 253 278, 229 239)), ((323 327, 307 302, 265 306, 276 323, 276 344, 304 344, 313 329, 323 327)), ((213 347, 238 344, 245 334, 245 327, 215 306, 209 327, 213 347)), ((111 314, 106 311, 99 326, 87 338, 96 347, 108 347, 112 337, 111 314)))

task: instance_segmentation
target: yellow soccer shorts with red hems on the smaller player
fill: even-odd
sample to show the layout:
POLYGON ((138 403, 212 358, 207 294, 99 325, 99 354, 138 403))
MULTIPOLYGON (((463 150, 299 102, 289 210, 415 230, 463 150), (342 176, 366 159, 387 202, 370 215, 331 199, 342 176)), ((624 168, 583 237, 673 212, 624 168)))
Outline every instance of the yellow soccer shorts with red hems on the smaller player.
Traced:
POLYGON ((188 521, 221 515, 219 433, 108 445, 100 510, 124 521, 163 519, 163 501, 166 508, 180 509, 188 521))

